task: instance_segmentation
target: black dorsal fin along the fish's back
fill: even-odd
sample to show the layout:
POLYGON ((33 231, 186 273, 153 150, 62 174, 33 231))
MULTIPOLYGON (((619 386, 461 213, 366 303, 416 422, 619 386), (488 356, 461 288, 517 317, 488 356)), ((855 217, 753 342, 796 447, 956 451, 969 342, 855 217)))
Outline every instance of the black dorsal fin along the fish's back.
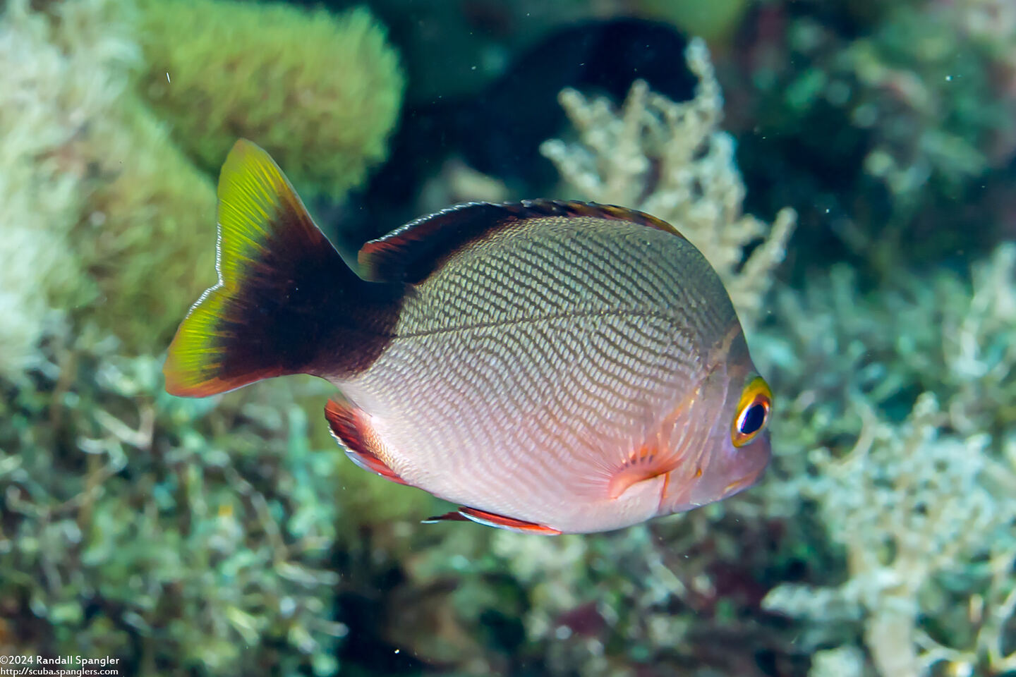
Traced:
POLYGON ((511 227, 530 218, 592 217, 639 223, 683 238, 677 228, 641 211, 594 202, 523 200, 494 204, 468 202, 422 216, 360 250, 364 279, 417 284, 434 272, 452 252, 487 232, 511 227))

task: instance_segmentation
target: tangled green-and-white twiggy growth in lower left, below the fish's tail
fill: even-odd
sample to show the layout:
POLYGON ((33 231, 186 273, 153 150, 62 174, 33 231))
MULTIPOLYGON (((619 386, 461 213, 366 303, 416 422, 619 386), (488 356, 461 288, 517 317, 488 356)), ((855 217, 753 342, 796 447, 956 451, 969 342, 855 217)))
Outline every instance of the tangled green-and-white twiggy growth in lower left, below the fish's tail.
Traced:
POLYGON ((53 380, 9 399, 0 382, 0 645, 139 674, 333 673, 342 459, 309 447, 294 391, 180 400, 156 359, 77 342, 53 380))

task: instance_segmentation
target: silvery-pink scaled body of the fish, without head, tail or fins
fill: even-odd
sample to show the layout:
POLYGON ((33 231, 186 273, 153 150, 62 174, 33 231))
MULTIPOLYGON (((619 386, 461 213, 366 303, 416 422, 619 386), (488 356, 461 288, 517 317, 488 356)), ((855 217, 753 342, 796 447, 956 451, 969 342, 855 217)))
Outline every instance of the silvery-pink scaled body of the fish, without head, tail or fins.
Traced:
POLYGON ((687 241, 534 218, 452 255, 415 287, 381 357, 336 385, 406 482, 518 519, 602 528, 608 514, 655 514, 662 478, 616 501, 607 482, 737 322, 687 241))

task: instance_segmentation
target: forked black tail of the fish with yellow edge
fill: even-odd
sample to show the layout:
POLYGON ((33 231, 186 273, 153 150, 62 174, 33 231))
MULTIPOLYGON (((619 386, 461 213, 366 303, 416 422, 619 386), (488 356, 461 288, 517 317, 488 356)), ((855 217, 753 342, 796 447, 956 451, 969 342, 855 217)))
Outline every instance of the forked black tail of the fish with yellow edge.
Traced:
POLYGON ((391 311, 371 306, 379 285, 350 270, 268 153, 243 139, 218 180, 215 267, 218 282, 170 344, 163 371, 171 394, 205 397, 288 374, 328 376, 377 351, 372 344, 388 324, 378 315, 391 311))

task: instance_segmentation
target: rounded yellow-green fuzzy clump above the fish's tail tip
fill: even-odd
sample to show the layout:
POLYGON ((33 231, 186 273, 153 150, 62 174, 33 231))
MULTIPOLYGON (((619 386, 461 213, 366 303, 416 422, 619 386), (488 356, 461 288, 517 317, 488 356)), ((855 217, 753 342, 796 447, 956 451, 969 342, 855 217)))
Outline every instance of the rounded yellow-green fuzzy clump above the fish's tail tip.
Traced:
POLYGON ((403 89, 369 12, 143 0, 142 96, 195 162, 217 170, 237 137, 302 190, 341 196, 385 155, 403 89))

